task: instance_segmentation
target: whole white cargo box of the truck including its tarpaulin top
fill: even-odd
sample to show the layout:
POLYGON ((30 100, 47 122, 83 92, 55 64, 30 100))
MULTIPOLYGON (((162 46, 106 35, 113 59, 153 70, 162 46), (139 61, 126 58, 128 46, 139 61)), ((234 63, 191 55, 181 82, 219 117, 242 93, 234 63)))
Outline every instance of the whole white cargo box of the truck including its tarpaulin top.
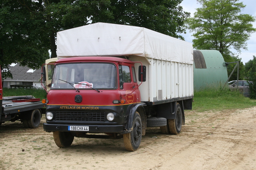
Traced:
MULTIPOLYGON (((57 56, 58 59, 126 56, 131 61, 142 62, 146 66, 146 82, 139 87, 141 101, 155 102, 194 94, 192 43, 143 27, 94 23, 60 31, 57 56)), ((135 66, 138 73, 139 64, 135 66)))

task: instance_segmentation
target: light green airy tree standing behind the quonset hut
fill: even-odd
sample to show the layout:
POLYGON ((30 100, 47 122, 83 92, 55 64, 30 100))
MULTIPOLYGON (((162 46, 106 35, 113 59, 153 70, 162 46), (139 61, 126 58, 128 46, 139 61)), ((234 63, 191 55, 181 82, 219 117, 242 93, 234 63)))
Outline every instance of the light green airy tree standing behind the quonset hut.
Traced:
POLYGON ((197 8, 194 18, 188 20, 195 37, 194 48, 218 50, 226 62, 232 61, 230 49, 238 53, 247 49, 246 41, 256 31, 252 25, 255 17, 240 14, 245 5, 238 1, 198 0, 202 8, 197 8))

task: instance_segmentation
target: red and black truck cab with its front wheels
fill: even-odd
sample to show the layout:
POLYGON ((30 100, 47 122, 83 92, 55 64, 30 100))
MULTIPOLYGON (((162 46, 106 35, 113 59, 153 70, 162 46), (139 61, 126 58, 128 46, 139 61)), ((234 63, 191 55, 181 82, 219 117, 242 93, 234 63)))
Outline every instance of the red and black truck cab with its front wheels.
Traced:
POLYGON ((87 133, 120 137, 126 134, 126 141, 134 140, 125 144, 126 149, 136 150, 141 140, 142 123, 138 118, 135 123, 130 119, 138 117, 136 110, 146 105, 140 102, 138 86, 134 63, 127 59, 60 59, 55 63, 47 96, 44 130, 54 132, 54 141, 59 147, 70 146, 74 137, 91 137, 87 133), (134 128, 135 138, 130 137, 134 128))

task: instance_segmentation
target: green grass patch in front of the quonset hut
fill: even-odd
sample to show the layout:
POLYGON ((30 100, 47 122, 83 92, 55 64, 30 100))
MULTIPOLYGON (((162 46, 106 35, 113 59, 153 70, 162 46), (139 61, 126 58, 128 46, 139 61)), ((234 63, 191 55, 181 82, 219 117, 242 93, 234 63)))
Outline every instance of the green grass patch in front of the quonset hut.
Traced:
POLYGON ((229 89, 206 89, 194 92, 192 109, 203 112, 210 110, 244 109, 256 106, 256 100, 242 96, 239 92, 229 89))

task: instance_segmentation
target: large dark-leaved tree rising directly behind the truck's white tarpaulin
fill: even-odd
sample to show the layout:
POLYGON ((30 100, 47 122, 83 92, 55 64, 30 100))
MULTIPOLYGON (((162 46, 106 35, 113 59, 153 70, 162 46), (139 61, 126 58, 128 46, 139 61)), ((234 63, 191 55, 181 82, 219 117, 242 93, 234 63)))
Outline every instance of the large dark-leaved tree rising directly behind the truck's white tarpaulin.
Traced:
POLYGON ((50 37, 52 57, 56 57, 56 32, 89 23, 106 22, 146 27, 173 37, 182 36, 184 21, 182 0, 18 0, 32 16, 44 21, 50 37), (36 8, 35 8, 36 7, 36 8))

